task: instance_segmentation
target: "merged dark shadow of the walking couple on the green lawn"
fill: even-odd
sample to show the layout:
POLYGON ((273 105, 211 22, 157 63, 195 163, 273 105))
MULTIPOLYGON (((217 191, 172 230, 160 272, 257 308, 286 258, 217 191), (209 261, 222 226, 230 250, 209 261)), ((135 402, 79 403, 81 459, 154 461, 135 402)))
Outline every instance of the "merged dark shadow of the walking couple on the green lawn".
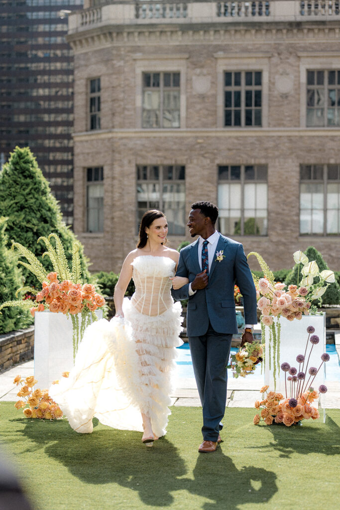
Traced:
MULTIPOLYGON (((180 490, 211 500, 203 504, 204 510, 237 510, 244 503, 268 501, 277 491, 275 473, 254 466, 237 469, 223 447, 213 454, 193 453, 191 460, 196 456, 197 460, 190 472, 179 450, 166 438, 147 448, 140 432, 103 428, 96 419, 94 425, 94 434, 82 435, 66 420, 28 420, 17 434, 31 441, 25 452, 43 448, 45 455, 72 476, 89 484, 117 483, 138 492, 144 504, 159 508, 170 506, 172 493, 180 490)), ((184 454, 189 460, 187 450, 184 454)))

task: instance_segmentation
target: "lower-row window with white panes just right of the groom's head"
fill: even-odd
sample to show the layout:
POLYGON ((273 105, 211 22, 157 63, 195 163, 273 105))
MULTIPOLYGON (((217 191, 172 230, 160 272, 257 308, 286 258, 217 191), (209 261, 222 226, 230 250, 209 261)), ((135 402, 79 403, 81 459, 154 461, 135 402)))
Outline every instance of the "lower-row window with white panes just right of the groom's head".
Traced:
POLYGON ((218 167, 219 228, 222 234, 267 235, 267 166, 218 167))

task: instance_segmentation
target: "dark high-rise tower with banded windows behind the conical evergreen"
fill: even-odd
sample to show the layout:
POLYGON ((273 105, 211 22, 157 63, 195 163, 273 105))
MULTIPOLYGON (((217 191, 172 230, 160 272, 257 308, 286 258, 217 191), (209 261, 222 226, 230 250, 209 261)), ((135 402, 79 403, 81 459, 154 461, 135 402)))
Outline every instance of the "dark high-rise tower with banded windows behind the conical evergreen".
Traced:
POLYGON ((83 0, 0 0, 0 159, 29 145, 73 223, 73 57, 67 11, 83 0), (63 12, 66 11, 66 12, 63 12))

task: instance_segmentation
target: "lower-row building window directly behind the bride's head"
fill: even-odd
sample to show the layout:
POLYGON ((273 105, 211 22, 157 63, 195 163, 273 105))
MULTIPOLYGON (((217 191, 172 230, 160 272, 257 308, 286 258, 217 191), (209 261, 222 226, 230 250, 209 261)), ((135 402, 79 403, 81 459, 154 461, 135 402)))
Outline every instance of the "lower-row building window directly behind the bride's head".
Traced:
POLYGON ((186 169, 180 165, 137 165, 138 228, 148 209, 166 214, 169 234, 185 234, 186 169))

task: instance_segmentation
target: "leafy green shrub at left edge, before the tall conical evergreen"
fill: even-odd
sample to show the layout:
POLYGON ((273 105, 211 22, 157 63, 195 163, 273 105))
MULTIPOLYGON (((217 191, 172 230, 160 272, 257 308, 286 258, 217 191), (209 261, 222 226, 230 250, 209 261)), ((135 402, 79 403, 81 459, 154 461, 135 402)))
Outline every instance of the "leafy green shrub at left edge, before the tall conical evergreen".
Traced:
POLYGON ((0 315, 0 334, 4 335, 15 329, 21 329, 33 323, 33 319, 27 310, 32 307, 31 300, 21 301, 17 298, 16 290, 22 286, 22 275, 17 267, 17 258, 7 248, 7 236, 5 234, 7 218, 0 218, 0 303, 4 301, 23 302, 26 310, 18 307, 6 308, 0 315))

